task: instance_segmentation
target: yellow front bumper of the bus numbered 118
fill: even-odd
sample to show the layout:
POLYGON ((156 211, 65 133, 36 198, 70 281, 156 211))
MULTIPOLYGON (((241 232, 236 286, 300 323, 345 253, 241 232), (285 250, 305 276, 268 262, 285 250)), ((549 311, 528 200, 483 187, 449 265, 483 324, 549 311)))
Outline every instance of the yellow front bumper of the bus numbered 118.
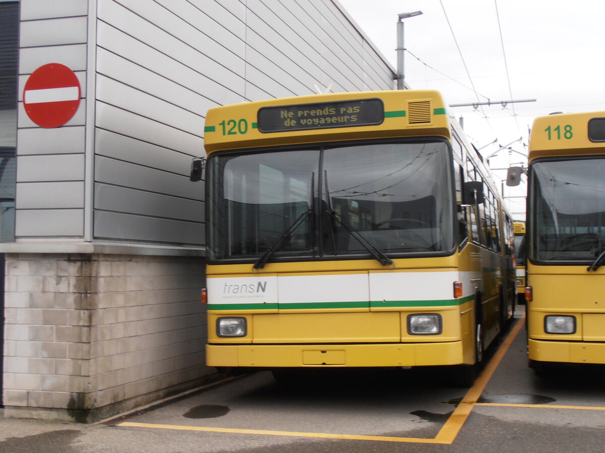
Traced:
POLYGON ((605 343, 528 340, 529 359, 539 362, 605 364, 605 343))

